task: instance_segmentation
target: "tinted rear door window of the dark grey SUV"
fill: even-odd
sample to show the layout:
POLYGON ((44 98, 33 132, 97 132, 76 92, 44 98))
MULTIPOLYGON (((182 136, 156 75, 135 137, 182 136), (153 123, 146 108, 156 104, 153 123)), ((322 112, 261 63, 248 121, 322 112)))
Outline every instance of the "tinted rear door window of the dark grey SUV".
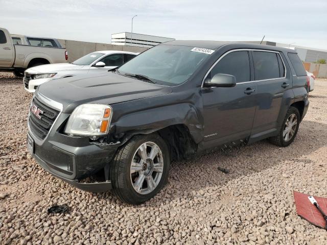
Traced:
POLYGON ((279 67, 278 56, 273 52, 253 51, 255 80, 284 77, 284 66, 279 67))

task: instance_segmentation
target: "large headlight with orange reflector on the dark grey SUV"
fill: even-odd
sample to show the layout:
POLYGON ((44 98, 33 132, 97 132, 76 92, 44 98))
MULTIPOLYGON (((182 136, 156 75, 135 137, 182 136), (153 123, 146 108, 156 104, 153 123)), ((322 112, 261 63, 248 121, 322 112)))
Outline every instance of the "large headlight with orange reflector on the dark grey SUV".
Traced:
POLYGON ((65 127, 73 135, 101 136, 108 134, 112 108, 101 104, 83 104, 75 108, 65 127))

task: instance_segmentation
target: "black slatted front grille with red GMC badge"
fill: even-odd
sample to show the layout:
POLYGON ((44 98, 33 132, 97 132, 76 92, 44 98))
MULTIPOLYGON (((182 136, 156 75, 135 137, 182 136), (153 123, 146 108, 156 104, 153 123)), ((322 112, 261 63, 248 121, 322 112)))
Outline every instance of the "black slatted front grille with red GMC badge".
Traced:
POLYGON ((44 139, 48 135, 54 121, 59 115, 59 111, 43 104, 34 97, 32 102, 38 109, 43 111, 43 114, 39 114, 40 118, 30 112, 29 125, 31 131, 40 139, 44 139))

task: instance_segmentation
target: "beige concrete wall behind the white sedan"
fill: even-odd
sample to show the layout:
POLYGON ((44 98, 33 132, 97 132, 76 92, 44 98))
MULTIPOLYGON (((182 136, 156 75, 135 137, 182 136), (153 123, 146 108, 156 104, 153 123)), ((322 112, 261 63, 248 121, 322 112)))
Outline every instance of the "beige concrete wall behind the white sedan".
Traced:
POLYGON ((146 47, 134 47, 134 46, 123 46, 123 45, 113 45, 109 43, 96 43, 96 42, 82 42, 73 40, 58 39, 62 47, 65 47, 68 52, 68 62, 73 62, 84 55, 95 51, 102 50, 118 50, 142 53, 148 48, 146 47))

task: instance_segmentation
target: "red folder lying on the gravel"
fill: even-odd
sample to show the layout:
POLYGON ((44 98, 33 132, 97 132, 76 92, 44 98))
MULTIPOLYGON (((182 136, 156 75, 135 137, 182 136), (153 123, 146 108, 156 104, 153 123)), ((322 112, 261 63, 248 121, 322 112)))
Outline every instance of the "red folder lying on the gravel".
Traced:
MULTIPOLYGON (((294 191, 294 200, 296 205, 296 212, 302 218, 308 220, 311 224, 325 228, 326 222, 323 219, 319 210, 310 202, 310 195, 306 195, 297 191, 294 191)), ((319 204, 321 210, 327 213, 327 198, 314 197, 319 204)))

